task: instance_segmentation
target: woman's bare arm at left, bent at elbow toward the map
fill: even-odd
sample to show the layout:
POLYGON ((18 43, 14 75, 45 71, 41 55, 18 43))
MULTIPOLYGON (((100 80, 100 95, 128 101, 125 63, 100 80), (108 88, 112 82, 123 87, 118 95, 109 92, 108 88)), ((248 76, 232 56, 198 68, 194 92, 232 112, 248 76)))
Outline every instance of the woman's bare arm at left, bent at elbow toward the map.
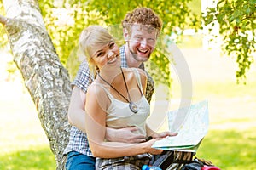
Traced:
POLYGON ((121 156, 135 156, 143 153, 160 154, 162 150, 151 148, 154 141, 139 144, 127 144, 121 142, 106 142, 106 102, 105 93, 99 88, 91 86, 87 92, 85 105, 85 126, 89 139, 90 150, 93 156, 102 158, 116 158, 121 156), (100 94, 100 98, 97 97, 100 94), (101 105, 99 105, 99 103, 101 105))

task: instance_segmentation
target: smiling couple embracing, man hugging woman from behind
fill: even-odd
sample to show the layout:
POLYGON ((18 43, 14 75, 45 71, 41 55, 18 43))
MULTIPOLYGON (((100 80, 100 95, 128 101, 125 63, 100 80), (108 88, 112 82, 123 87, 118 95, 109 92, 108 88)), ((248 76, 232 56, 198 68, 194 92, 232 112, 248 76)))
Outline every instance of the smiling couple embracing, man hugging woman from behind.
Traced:
POLYGON ((88 63, 73 82, 68 111, 73 127, 64 151, 68 170, 141 169, 162 152, 151 148, 154 141, 175 135, 155 133, 146 123, 154 82, 143 62, 154 51, 161 20, 149 8, 136 8, 122 25, 120 48, 101 26, 89 26, 79 37, 88 63), (149 136, 153 139, 146 141, 149 136))

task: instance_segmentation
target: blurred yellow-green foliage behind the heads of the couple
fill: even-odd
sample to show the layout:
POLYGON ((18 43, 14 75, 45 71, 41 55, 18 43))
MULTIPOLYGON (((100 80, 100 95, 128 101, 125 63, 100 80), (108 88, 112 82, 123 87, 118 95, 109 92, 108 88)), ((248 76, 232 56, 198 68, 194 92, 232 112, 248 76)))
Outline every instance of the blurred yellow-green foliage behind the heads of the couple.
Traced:
MULTIPOLYGON (((40 1, 39 5, 44 17, 45 26, 52 41, 55 44, 57 54, 61 62, 66 65, 71 78, 75 75, 79 57, 76 55, 79 33, 86 26, 100 24, 108 26, 114 37, 120 44, 123 43, 120 23, 127 11, 137 7, 152 8, 163 20, 163 35, 181 34, 184 28, 198 28, 200 21, 198 16, 191 14, 188 3, 191 0, 169 1, 84 1, 70 0, 64 3, 55 1, 40 1), (102 5, 104 4, 104 5, 102 5), (121 8, 120 8, 121 7, 121 8)), ((166 38, 163 36, 158 42, 155 53, 151 57, 149 73, 153 75, 155 82, 165 83, 170 86, 169 59, 170 53, 166 53, 166 38)))

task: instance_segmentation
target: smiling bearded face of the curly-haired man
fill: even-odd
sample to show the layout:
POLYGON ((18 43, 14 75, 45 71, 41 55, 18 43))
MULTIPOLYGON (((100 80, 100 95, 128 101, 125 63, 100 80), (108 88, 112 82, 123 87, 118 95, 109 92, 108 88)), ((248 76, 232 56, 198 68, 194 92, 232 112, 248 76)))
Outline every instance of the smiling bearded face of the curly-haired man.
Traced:
POLYGON ((139 62, 147 61, 154 51, 156 39, 157 30, 148 29, 148 26, 131 26, 131 33, 127 35, 127 45, 132 57, 139 62))

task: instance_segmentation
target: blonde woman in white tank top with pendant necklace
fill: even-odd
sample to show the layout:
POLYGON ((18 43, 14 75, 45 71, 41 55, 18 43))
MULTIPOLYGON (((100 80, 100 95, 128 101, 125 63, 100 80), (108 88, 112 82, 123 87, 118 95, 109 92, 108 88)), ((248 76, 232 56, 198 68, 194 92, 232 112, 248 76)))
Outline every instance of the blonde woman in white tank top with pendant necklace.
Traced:
POLYGON ((85 128, 96 169, 141 169, 151 154, 155 140, 172 133, 155 133, 146 123, 150 107, 145 98, 147 74, 137 68, 121 68, 119 48, 101 26, 89 26, 79 37, 79 47, 96 72, 86 94, 85 128), (154 139, 128 144, 106 140, 106 128, 137 127, 137 133, 154 139), (159 138, 157 138, 159 137, 159 138))

